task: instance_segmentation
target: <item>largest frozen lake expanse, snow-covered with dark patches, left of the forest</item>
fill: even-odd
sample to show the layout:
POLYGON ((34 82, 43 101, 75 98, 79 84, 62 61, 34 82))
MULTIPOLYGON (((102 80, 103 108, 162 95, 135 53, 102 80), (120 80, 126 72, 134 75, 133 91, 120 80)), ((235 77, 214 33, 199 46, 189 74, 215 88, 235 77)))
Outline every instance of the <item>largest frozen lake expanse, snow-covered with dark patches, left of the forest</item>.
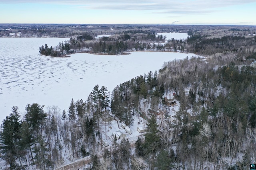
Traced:
MULTIPOLYGON (((165 61, 194 54, 133 52, 106 56, 78 53, 70 58, 39 55, 39 47, 58 45, 60 38, 0 38, 0 123, 18 106, 58 106, 68 111, 71 99, 86 101, 96 84, 111 92, 116 85, 150 70, 159 70, 165 61)), ((195 56, 195 55, 194 55, 195 56)))

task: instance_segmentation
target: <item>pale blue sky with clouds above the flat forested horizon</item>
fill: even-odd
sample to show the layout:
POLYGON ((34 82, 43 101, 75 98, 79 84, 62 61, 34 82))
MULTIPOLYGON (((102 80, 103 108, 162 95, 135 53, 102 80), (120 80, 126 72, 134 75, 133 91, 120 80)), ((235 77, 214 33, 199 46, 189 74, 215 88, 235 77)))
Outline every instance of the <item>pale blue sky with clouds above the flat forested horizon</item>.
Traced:
POLYGON ((0 23, 256 25, 256 0, 0 0, 0 23))

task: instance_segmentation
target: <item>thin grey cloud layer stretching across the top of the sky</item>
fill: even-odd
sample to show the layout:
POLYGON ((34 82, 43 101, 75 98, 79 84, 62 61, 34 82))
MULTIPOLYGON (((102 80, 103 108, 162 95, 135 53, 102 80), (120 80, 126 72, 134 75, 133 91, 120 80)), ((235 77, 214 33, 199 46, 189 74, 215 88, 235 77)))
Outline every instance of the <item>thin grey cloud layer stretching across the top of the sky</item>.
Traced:
POLYGON ((60 4, 91 10, 140 10, 166 14, 206 14, 216 12, 217 8, 252 2, 255 0, 0 0, 0 4, 60 4))

